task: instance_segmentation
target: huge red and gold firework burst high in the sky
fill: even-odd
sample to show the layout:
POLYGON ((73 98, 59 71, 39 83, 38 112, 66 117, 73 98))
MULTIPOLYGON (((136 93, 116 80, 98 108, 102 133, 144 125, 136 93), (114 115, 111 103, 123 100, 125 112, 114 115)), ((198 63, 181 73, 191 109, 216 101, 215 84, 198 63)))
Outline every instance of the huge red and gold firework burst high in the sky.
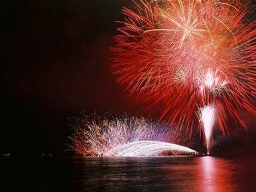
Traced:
POLYGON ((246 5, 239 0, 133 2, 135 11, 122 11, 125 20, 112 48, 118 81, 152 106, 164 101, 161 118, 190 135, 200 109, 209 105, 224 134, 230 119, 247 128, 241 112, 256 115, 256 23, 245 19, 246 5))

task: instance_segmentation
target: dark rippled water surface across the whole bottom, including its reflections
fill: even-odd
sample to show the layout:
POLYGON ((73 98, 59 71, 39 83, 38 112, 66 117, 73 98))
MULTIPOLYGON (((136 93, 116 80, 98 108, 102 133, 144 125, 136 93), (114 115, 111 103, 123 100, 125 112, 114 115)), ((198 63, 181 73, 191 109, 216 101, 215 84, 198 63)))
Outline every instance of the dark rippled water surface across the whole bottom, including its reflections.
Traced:
POLYGON ((1 191, 256 191, 256 158, 7 158, 1 191))

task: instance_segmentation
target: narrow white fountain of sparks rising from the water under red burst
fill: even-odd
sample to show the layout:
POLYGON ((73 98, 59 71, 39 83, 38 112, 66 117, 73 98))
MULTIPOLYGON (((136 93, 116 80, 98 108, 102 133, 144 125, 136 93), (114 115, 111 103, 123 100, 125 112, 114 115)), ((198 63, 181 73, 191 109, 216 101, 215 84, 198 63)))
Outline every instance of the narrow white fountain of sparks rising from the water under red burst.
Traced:
POLYGON ((201 121, 204 128, 204 138, 206 140, 207 154, 209 154, 212 127, 214 126, 216 109, 212 105, 204 106, 200 109, 201 121))

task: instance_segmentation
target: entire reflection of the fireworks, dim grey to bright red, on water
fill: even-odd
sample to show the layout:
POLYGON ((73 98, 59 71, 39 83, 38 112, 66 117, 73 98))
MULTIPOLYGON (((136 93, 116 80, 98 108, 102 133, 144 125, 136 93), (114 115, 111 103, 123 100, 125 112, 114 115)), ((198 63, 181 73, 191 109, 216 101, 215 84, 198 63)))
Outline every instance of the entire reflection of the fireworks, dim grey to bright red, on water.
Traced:
POLYGON ((255 158, 76 158, 78 191, 253 191, 255 158), (253 168, 253 169, 252 169, 253 168))

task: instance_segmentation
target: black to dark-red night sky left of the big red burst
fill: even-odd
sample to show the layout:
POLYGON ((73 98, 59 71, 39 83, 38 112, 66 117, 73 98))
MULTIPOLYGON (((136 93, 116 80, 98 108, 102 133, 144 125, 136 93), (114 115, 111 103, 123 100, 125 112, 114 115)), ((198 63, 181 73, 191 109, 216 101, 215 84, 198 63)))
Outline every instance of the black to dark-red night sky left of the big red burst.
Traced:
MULTIPOLYGON (((129 97, 111 72, 115 21, 130 2, 10 0, 1 5, 1 153, 62 153, 71 134, 66 118, 83 109, 158 117, 159 109, 145 113, 144 104, 129 97)), ((243 130, 239 135, 255 144, 250 129, 253 136, 243 130)))

